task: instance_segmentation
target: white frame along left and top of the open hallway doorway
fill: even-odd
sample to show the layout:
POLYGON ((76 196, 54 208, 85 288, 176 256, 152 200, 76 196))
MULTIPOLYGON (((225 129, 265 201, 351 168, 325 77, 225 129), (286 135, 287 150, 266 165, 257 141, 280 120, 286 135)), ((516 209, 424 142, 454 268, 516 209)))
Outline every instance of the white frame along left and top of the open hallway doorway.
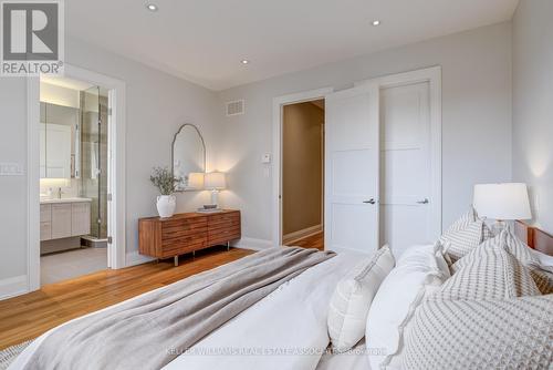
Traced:
MULTIPOLYGON (((284 105, 324 100, 333 88, 303 91, 273 99, 273 166, 272 166, 272 245, 282 245, 282 119, 284 105)), ((324 227, 324 226, 323 226, 324 227)))

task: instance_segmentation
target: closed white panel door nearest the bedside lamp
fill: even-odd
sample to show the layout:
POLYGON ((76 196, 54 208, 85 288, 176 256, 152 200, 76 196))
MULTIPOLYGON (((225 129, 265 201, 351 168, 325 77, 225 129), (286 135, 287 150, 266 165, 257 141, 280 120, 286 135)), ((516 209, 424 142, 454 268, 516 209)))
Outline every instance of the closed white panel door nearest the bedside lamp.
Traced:
POLYGON ((380 89, 380 244, 398 257, 434 234, 428 81, 380 89))

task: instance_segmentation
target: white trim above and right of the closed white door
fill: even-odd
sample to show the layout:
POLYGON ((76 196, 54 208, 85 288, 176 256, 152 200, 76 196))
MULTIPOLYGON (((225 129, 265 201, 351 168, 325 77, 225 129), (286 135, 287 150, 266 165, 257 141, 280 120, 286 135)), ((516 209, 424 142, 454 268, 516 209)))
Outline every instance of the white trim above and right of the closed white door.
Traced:
POLYGON ((368 79, 355 83, 356 86, 376 83, 379 89, 401 86, 407 84, 428 82, 430 88, 430 204, 431 204, 431 236, 438 238, 442 232, 442 178, 441 178, 441 65, 421 70, 389 74, 368 79))

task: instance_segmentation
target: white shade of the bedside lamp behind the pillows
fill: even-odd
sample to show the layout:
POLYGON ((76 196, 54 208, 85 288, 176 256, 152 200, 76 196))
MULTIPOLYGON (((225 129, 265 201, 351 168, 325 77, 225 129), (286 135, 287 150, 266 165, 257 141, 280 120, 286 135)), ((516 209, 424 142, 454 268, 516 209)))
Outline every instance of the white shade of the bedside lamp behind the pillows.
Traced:
POLYGON ((474 185, 473 205, 482 217, 501 220, 532 218, 526 184, 474 185))

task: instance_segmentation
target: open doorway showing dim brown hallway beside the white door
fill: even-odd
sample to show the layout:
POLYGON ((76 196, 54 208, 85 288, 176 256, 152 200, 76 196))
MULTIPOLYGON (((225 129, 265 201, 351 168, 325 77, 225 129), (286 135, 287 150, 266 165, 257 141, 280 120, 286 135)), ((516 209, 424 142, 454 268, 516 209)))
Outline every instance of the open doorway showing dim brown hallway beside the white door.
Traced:
POLYGON ((324 249, 324 100, 282 110, 282 244, 324 249))

